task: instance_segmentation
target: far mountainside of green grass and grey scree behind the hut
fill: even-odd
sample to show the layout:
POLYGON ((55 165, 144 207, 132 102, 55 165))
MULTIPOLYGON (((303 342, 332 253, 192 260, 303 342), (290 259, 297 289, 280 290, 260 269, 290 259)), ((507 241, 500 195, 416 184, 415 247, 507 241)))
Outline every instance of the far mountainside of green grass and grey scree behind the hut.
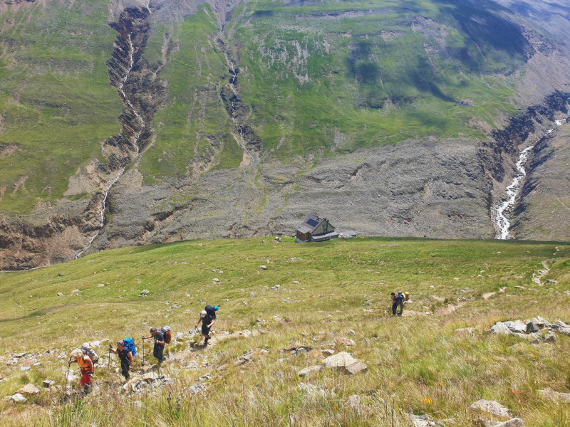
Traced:
MULTIPOLYGON (((522 149, 566 149, 556 4, 38 0, 2 3, 0 22, 6 270, 291 233, 315 213, 490 238, 522 149)), ((546 203, 566 206, 559 174, 546 203)), ((512 222, 537 224, 512 236, 568 238, 527 206, 512 222)))

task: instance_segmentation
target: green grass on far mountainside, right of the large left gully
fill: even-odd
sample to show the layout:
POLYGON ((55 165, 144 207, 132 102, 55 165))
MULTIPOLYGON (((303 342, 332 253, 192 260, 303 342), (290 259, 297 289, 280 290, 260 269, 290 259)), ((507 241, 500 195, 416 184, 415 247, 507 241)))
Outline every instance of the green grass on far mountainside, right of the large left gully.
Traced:
MULTIPOLYGON (((326 156, 425 135, 482 137, 467 125, 472 117, 493 125, 499 112, 516 114, 510 103, 518 79, 513 71, 524 63, 524 43, 500 14, 494 6, 473 9, 460 0, 300 7, 256 1, 236 7, 225 34, 229 54, 239 58, 239 97, 251 112, 248 124, 264 149, 275 149, 276 156, 287 159, 292 153, 326 156), (346 13, 369 15, 318 19, 346 13), (437 21, 440 28, 432 33, 444 31, 445 46, 437 37, 414 32, 410 25, 415 16, 437 21), (384 40, 381 31, 398 35, 384 40), (440 51, 430 54, 433 66, 424 43, 428 50, 440 51), (477 106, 455 106, 467 98, 477 106), (338 147, 333 143, 335 130, 346 134, 338 147)), ((209 50, 204 31, 217 32, 204 12, 187 19, 181 34, 191 35, 191 41, 180 36, 180 52, 172 54, 173 62, 162 73, 168 75, 172 105, 159 114, 165 127, 157 135, 155 151, 165 154, 145 159, 146 176, 185 174, 196 131, 207 122, 210 132, 221 132, 226 142, 220 167, 239 163, 223 105, 212 102, 206 122, 195 119, 194 87, 198 93, 219 90, 219 83, 229 77, 221 54, 209 50), (199 51, 202 46, 206 52, 199 51), (197 63, 205 58, 211 65, 209 83, 204 72, 197 73, 197 63), (172 86, 175 81, 183 84, 172 86), (185 123, 191 112, 192 120, 185 123)))

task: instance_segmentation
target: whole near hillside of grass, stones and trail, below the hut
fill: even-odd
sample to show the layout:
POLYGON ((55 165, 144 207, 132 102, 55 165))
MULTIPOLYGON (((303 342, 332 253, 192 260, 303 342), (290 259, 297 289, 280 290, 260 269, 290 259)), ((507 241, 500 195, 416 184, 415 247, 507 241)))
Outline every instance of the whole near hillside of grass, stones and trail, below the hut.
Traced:
POLYGON ((281 240, 120 248, 1 273, 0 425, 568 423, 566 243, 281 240), (391 317, 400 290, 410 302, 391 317), (203 348, 194 326, 207 303, 221 308, 203 348), (140 337, 163 325, 167 362, 153 367, 147 343, 142 367, 140 337), (125 382, 105 350, 128 336, 139 352, 125 382), (64 374, 86 341, 100 362, 81 400, 63 394, 64 374))

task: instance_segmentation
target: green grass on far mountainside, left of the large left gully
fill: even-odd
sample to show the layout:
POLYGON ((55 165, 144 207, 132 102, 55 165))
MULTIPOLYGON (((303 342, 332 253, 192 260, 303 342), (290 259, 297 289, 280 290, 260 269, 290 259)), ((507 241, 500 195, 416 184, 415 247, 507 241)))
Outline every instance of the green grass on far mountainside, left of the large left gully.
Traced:
POLYGON ((51 1, 0 16, 0 148, 18 144, 0 159, 1 209, 24 213, 61 199, 69 177, 120 130, 123 105, 105 65, 116 36, 107 19, 100 0, 51 1), (14 191, 21 176, 25 184, 14 191))

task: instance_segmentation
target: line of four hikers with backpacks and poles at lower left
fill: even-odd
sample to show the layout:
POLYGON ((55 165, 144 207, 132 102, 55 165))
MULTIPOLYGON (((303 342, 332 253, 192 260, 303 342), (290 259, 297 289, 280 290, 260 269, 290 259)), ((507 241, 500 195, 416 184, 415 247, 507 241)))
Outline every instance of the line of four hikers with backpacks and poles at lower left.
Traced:
MULTIPOLYGON (((218 310, 217 305, 207 305, 204 310, 200 313, 200 318, 196 324, 196 330, 198 330, 198 325, 202 322, 202 335, 204 335, 204 347, 207 347, 210 330, 216 319, 216 312, 218 310)), ((170 332, 170 327, 165 326, 160 329, 156 327, 150 328, 150 336, 142 337, 142 364, 145 364, 145 340, 154 338, 154 348, 152 350, 152 356, 154 356, 158 361, 158 366, 165 361, 164 350, 165 344, 170 344, 172 340, 172 335, 170 332)), ((120 371, 125 377, 125 380, 130 379, 129 371, 133 368, 133 357, 138 352, 138 348, 135 346, 133 338, 121 339, 117 342, 117 349, 113 349, 113 345, 109 344, 109 359, 108 366, 110 366, 110 354, 117 354, 120 360, 120 371)), ((74 349, 69 355, 68 371, 66 374, 66 386, 64 392, 67 389, 67 383, 73 379, 73 375, 70 374, 69 369, 72 363, 77 363, 81 369, 81 386, 83 387, 83 396, 86 396, 93 384, 93 374, 95 372, 95 363, 98 362, 99 356, 95 349, 91 346, 89 342, 83 343, 81 349, 74 349)))

